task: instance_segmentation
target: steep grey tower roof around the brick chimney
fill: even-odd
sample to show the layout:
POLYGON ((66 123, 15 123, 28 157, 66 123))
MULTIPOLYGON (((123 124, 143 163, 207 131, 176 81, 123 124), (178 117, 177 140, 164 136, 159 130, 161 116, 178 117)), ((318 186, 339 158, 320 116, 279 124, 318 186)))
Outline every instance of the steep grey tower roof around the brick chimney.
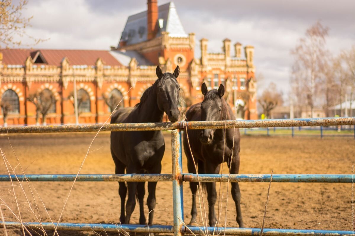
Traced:
MULTIPOLYGON (((171 37, 188 36, 182 27, 174 2, 169 2, 158 8, 157 37, 159 37, 163 31, 168 32, 171 37), (159 19, 160 21, 163 19, 163 25, 159 24, 159 19)), ((143 11, 128 17, 120 42, 125 41, 126 45, 144 42, 147 41, 147 33, 147 11, 143 11)))

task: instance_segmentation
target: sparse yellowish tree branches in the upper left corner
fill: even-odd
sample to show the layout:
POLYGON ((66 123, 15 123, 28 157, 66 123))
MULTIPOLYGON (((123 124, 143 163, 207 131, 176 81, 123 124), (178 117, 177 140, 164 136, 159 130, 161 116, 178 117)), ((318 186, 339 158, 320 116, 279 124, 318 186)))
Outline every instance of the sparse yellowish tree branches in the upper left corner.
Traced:
POLYGON ((0 44, 6 47, 20 46, 22 44, 20 38, 23 36, 33 40, 33 44, 25 46, 36 45, 44 41, 26 33, 26 29, 31 27, 29 22, 33 18, 22 16, 22 11, 27 3, 27 0, 15 1, 15 3, 12 0, 0 1, 0 44))

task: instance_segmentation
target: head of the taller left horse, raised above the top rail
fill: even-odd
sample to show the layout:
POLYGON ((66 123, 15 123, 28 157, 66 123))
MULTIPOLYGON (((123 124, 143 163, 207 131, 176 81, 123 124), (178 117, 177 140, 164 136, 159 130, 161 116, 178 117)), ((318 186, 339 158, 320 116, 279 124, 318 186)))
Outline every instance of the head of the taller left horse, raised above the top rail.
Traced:
POLYGON ((180 111, 178 108, 180 86, 176 78, 179 76, 180 68, 176 67, 174 73, 162 73, 158 66, 156 69, 158 76, 157 101, 158 108, 165 111, 171 122, 178 121, 180 111))

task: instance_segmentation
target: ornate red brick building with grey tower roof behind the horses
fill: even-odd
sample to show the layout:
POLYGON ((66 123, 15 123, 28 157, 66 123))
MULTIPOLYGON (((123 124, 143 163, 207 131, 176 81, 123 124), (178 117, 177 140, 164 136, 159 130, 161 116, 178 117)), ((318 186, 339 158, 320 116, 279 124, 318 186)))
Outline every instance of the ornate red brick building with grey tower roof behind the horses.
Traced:
MULTIPOLYGON (((47 123, 75 123, 74 81, 82 99, 79 123, 104 122, 110 114, 105 100, 123 98, 124 107, 138 103, 157 79, 157 65, 163 71, 180 66, 183 96, 193 103, 202 98, 202 82, 211 89, 222 83, 225 98, 239 106, 236 116, 256 119, 253 47, 245 46, 242 57, 242 46, 236 43, 231 56, 229 39, 223 40, 221 53, 209 53, 207 39, 200 42, 197 59, 195 34, 185 33, 174 3, 158 7, 156 0, 148 0, 148 10, 127 19, 118 47, 110 51, 0 49, 0 98, 9 111, 7 123, 34 124, 38 109, 27 98, 42 91, 53 94, 47 123)), ((42 115, 39 119, 42 123, 42 115)))

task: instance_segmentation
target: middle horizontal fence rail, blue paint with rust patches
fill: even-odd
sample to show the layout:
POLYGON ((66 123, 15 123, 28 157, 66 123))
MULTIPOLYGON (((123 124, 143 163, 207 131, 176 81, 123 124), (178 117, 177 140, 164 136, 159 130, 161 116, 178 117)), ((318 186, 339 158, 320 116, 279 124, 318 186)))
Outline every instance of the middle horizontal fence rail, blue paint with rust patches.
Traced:
MULTIPOLYGON (((72 182, 76 174, 0 175, 1 181, 72 182)), ((270 174, 179 174, 185 182, 270 182, 270 174)), ((351 174, 273 174, 274 183, 351 183, 351 174)), ((173 181, 171 174, 79 174, 78 182, 166 182, 173 181)))

